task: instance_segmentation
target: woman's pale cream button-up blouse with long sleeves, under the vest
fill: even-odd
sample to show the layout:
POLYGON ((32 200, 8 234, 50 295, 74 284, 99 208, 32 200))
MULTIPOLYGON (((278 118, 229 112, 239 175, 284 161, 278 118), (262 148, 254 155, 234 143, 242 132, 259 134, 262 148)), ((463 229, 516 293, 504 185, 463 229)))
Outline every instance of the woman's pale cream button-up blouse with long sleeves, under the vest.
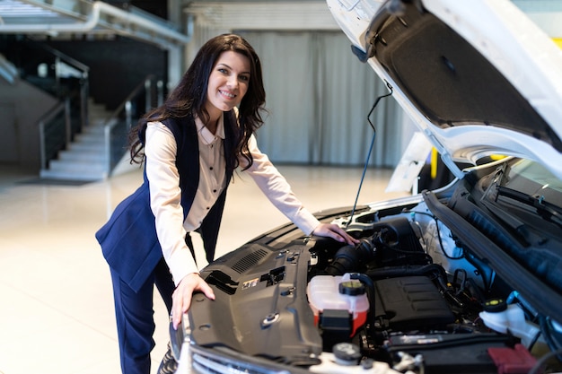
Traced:
MULTIPOLYGON (((195 200, 185 221, 180 191, 180 174, 175 164, 176 141, 171 130, 161 122, 149 122, 146 127, 146 177, 150 185, 151 208, 156 219, 156 232, 162 255, 170 267, 177 285, 187 274, 198 273, 198 266, 185 243, 186 233, 198 229, 210 208, 223 192, 225 180, 224 119, 220 118, 215 135, 196 118, 199 142, 199 184, 195 200)), ((253 157, 250 169, 254 179, 269 201, 306 235, 320 222, 294 196, 286 179, 259 151, 252 135, 249 150, 253 157)), ((248 161, 239 156, 241 168, 248 161)))

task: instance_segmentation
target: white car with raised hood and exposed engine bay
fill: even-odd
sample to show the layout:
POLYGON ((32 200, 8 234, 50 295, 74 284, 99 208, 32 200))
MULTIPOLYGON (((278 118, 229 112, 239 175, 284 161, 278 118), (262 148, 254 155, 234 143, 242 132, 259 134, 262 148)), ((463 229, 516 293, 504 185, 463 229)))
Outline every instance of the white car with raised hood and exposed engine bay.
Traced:
POLYGON ((455 179, 318 214, 358 246, 287 224, 206 266, 160 371, 560 371, 562 53, 508 0, 328 6, 455 179))

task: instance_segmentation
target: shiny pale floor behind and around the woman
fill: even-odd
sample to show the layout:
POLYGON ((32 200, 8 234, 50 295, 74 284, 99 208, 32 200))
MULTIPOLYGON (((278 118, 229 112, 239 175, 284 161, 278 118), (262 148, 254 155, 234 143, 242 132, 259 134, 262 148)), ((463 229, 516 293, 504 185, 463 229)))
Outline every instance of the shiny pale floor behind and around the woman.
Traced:
MULTIPOLYGON (((311 211, 352 205, 362 170, 279 167, 311 211)), ((359 203, 384 200, 391 170, 368 170, 359 203)), ((103 182, 57 186, 0 168, 0 374, 117 374, 109 269, 93 233, 139 185, 139 171, 103 182)), ((286 222, 249 178, 229 190, 218 255, 286 222)), ((162 359, 167 313, 154 299, 162 359)))

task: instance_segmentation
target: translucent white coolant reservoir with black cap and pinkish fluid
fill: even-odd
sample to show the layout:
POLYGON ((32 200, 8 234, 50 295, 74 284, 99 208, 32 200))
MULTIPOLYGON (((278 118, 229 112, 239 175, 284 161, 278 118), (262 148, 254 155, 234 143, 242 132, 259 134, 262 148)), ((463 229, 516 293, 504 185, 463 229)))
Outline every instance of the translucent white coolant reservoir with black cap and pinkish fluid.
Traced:
POLYGON ((308 301, 318 326, 321 313, 326 309, 347 310, 353 316, 353 332, 367 320, 369 300, 364 284, 351 279, 350 274, 316 275, 306 288, 308 301))

